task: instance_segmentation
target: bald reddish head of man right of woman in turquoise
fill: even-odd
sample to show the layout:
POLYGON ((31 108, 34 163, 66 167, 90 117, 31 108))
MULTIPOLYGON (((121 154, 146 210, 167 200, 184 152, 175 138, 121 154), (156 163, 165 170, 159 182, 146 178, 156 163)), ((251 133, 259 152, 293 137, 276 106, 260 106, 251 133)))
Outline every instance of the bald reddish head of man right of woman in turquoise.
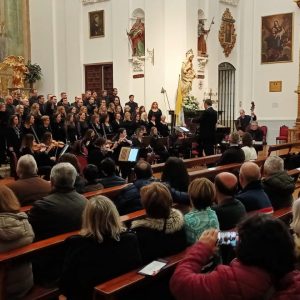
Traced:
POLYGON ((228 172, 222 172, 215 178, 215 187, 219 195, 233 196, 237 191, 237 185, 236 176, 228 172))

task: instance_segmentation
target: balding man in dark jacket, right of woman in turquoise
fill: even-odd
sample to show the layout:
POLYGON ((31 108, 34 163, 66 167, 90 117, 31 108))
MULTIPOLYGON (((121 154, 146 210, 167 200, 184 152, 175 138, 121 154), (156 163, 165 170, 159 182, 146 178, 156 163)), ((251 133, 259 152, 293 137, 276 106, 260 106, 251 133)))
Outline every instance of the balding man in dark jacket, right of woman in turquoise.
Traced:
POLYGON ((235 198, 238 180, 235 175, 222 172, 215 178, 216 203, 213 206, 217 214, 220 230, 230 230, 246 216, 245 206, 235 198))

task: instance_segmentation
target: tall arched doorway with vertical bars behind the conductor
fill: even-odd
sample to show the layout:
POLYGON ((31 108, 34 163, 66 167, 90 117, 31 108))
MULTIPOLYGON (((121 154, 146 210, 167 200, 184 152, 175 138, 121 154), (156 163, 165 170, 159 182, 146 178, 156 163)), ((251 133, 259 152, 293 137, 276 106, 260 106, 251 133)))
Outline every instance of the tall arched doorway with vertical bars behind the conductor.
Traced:
POLYGON ((234 127, 234 108, 235 108, 235 67, 227 62, 219 64, 219 104, 218 110, 221 111, 219 119, 221 124, 234 127))

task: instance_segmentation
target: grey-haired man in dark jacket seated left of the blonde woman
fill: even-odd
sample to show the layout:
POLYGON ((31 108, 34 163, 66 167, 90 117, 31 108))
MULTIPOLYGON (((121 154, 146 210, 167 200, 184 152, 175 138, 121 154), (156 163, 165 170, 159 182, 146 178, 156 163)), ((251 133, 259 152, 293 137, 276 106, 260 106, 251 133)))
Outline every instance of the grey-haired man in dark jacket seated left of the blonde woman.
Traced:
MULTIPOLYGON (((80 229, 87 199, 74 189, 76 176, 77 171, 70 163, 59 163, 52 168, 52 193, 35 201, 28 212, 37 241, 80 229)), ((34 275, 40 284, 55 284, 63 255, 61 249, 50 250, 34 261, 34 275)))

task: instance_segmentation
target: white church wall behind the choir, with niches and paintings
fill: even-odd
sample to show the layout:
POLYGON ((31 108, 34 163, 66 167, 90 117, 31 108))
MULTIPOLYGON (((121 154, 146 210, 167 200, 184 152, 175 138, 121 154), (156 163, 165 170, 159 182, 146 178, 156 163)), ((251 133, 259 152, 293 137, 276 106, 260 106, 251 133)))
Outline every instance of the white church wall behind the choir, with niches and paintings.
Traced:
MULTIPOLYGON (((41 65, 44 73, 37 87, 45 94, 66 90, 73 100, 84 91, 84 64, 112 62, 114 86, 119 89, 123 104, 132 93, 147 108, 157 100, 166 113, 168 107, 160 93, 161 87, 167 90, 170 106, 174 108, 178 75, 190 48, 197 68, 198 9, 206 15, 206 29, 213 17, 215 24, 207 39, 205 84, 200 90, 199 79, 195 79, 191 94, 202 100, 209 88, 216 92, 218 65, 229 62, 236 68, 236 116, 240 107, 249 111, 254 100, 261 122, 295 120, 300 10, 292 1, 285 0, 240 0, 238 6, 218 0, 110 0, 91 5, 82 5, 80 0, 30 0, 31 58, 41 65), (236 20, 237 33, 236 45, 228 58, 218 40, 226 7, 236 20), (132 78, 131 49, 126 36, 136 8, 145 12, 145 48, 154 49, 154 65, 146 59, 145 77, 140 79, 132 78), (105 37, 90 39, 88 13, 102 9, 105 10, 105 37), (285 12, 294 12, 293 62, 261 64, 261 17, 285 12), (281 93, 269 93, 271 80, 282 80, 281 93)), ((277 134, 278 128, 274 130, 277 134)))

